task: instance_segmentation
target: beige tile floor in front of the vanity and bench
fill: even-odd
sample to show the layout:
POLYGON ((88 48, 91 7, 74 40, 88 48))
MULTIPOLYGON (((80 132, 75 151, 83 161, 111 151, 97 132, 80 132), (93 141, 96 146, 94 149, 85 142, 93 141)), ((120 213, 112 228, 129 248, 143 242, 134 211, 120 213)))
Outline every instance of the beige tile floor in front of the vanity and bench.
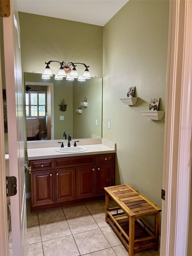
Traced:
MULTIPOLYGON (((11 224, 8 219, 10 255, 11 224)), ((98 200, 31 212, 27 200, 28 256, 128 256, 128 251, 105 222, 105 201, 98 200)), ((159 256, 145 250, 138 256, 159 256)))

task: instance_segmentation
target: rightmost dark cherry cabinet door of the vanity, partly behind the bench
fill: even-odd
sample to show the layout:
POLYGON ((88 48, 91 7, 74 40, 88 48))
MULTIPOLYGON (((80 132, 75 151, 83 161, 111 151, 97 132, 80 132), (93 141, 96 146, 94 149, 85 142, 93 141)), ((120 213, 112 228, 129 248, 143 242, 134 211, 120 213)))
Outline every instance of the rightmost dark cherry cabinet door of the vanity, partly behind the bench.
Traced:
POLYGON ((114 184, 114 168, 113 164, 97 165, 96 166, 96 195, 104 195, 105 187, 113 186, 114 184))

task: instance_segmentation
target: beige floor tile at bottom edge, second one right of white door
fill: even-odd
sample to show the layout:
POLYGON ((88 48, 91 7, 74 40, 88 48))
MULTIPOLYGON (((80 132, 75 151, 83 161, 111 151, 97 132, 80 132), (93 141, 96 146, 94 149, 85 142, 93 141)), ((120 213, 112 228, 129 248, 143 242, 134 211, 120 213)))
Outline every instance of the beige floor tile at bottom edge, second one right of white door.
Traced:
POLYGON ((44 256, 78 256, 79 251, 73 236, 63 236, 43 243, 44 256))

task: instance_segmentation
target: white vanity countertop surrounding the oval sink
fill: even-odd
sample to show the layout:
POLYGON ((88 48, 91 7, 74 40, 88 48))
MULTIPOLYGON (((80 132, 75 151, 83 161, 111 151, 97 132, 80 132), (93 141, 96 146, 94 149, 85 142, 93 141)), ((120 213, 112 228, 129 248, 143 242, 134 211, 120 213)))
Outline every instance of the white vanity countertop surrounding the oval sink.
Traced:
POLYGON ((28 160, 59 158, 59 157, 68 157, 68 156, 81 156, 81 155, 95 155, 95 154, 106 154, 106 153, 116 152, 115 143, 104 140, 104 139, 102 139, 101 142, 102 144, 81 145, 86 147, 87 150, 83 152, 77 152, 77 153, 57 152, 55 151, 55 149, 58 148, 58 146, 31 148, 31 149, 27 149, 28 160))

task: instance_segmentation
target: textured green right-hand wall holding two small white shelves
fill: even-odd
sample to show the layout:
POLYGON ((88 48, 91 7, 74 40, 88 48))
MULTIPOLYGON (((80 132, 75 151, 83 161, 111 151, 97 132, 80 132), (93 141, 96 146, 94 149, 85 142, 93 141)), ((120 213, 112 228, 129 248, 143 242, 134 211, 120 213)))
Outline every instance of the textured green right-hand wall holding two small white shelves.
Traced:
POLYGON ((130 0, 104 26, 103 49, 103 138, 117 144, 116 184, 133 185, 160 207, 164 118, 139 111, 155 97, 165 110, 168 20, 169 1, 130 0), (131 86, 136 106, 119 100, 131 86))

